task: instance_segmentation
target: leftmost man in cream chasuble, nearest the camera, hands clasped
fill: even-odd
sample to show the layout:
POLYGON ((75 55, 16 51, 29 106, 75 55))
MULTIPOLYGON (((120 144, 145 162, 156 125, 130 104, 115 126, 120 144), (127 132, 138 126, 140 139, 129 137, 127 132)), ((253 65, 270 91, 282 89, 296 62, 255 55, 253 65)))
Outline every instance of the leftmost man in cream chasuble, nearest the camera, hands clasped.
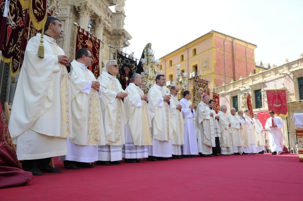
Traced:
POLYGON ((8 125, 18 160, 33 175, 61 172, 49 163, 67 153, 72 134, 69 59, 56 44, 61 26, 58 18, 47 18, 43 59, 37 56, 41 34, 28 41, 8 125))

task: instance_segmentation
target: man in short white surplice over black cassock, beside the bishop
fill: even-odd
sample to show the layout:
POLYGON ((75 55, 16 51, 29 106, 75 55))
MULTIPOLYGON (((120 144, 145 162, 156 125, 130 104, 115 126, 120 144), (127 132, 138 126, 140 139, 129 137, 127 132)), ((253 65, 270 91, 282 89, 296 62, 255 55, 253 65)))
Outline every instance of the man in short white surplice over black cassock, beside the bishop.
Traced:
POLYGON ((211 144, 212 154, 214 156, 220 156, 220 154, 221 154, 221 148, 220 148, 221 135, 219 132, 219 123, 218 123, 220 121, 220 117, 219 117, 219 115, 216 114, 216 112, 214 110, 215 100, 210 99, 208 105, 209 105, 210 112, 212 112, 214 114, 214 118, 213 118, 214 121, 212 122, 212 124, 214 125, 214 134, 213 134, 214 136, 213 137, 215 138, 215 143, 211 144))

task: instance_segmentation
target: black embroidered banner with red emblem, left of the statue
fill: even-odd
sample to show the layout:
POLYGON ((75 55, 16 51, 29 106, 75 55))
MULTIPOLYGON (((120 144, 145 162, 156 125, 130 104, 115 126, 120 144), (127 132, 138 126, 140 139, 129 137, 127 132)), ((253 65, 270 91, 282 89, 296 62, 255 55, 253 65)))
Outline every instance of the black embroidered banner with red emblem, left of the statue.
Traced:
POLYGON ((117 63, 119 66, 119 81, 122 89, 126 89, 129 83, 132 82, 132 75, 137 71, 137 62, 126 57, 125 53, 117 51, 117 63))

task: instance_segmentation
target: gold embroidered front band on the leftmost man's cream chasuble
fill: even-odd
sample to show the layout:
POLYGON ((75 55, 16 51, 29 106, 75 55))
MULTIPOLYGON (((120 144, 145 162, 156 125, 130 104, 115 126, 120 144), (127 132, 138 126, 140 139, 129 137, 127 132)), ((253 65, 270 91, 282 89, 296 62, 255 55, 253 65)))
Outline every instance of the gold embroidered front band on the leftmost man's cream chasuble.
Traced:
MULTIPOLYGON (((56 43, 52 44, 52 46, 55 55, 62 55, 62 52, 58 48, 58 45, 56 43)), ((60 105, 61 105, 61 137, 62 138, 69 138, 71 137, 71 131, 70 131, 70 111, 69 111, 69 104, 70 104, 70 98, 69 98, 69 92, 70 92, 70 86, 69 86, 69 74, 67 72, 66 66, 59 63, 59 68, 61 71, 61 79, 60 79, 60 105)))

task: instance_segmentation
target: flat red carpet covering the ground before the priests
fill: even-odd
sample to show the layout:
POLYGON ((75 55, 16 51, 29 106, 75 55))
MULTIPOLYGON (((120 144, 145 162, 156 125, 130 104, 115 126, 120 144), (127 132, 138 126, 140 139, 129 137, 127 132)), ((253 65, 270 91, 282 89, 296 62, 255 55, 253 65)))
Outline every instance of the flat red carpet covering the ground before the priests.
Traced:
POLYGON ((27 186, 0 189, 1 201, 222 200, 302 201, 303 163, 296 154, 195 157, 64 169, 27 186))

